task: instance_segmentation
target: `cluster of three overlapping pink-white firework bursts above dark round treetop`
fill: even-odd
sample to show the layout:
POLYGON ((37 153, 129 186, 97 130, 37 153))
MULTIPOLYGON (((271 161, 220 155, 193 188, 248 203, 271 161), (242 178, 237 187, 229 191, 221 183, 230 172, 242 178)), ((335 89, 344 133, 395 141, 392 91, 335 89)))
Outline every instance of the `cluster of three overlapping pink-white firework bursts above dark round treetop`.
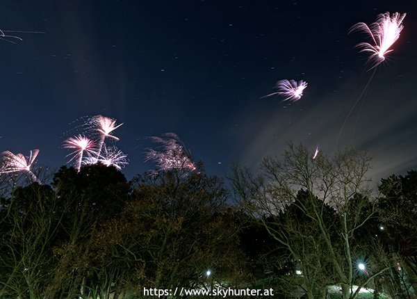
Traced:
POLYGON ((103 163, 104 165, 113 165, 118 170, 127 165, 126 154, 121 152, 115 146, 106 145, 106 140, 120 140, 113 135, 113 131, 122 124, 116 124, 116 120, 103 115, 95 115, 88 118, 83 124, 85 127, 84 134, 68 138, 64 141, 63 147, 73 151, 67 156, 71 156, 68 163, 74 161, 77 171, 80 171, 82 165, 91 165, 103 163), (86 137, 91 135, 92 137, 86 137))

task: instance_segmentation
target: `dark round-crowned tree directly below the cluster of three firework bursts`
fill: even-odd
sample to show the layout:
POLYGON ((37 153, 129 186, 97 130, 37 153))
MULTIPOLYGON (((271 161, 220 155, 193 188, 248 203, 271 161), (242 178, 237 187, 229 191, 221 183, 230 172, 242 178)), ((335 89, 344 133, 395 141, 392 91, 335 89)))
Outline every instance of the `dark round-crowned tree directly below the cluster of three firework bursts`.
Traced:
MULTIPOLYGON (((101 163, 86 165, 79 172, 64 166, 52 185, 60 203, 68 208, 63 213, 60 243, 54 248, 58 266, 49 289, 55 298, 85 296, 101 281, 95 277, 100 265, 91 252, 96 227, 122 211, 129 201, 130 185, 119 170, 101 163)), ((108 273, 102 274, 104 281, 108 273)))

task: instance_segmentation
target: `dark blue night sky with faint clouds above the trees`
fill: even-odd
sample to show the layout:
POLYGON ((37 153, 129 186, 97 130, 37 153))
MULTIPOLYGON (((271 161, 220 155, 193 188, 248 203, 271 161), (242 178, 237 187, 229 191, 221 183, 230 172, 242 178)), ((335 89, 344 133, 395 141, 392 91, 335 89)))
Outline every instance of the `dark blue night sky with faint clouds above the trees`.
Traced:
POLYGON ((174 132, 210 175, 239 162, 256 168, 288 140, 332 154, 347 113, 373 70, 348 34, 357 22, 407 13, 393 51, 338 146, 373 156, 377 180, 417 168, 416 1, 3 1, 0 29, 0 151, 29 154, 57 169, 65 138, 88 115, 124 123, 114 134, 130 179, 147 136, 174 132), (281 79, 309 86, 294 103, 274 92, 281 79))

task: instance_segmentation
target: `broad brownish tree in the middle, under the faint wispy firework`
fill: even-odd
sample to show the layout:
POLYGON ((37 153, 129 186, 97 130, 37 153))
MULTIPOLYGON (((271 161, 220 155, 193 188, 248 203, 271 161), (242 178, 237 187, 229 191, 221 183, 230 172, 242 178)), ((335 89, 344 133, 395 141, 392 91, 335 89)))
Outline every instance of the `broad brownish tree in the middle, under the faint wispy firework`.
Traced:
POLYGON ((92 248, 97 259, 120 265, 117 293, 236 282, 243 254, 227 195, 220 179, 202 171, 136 177, 132 202, 98 229, 95 243, 101 245, 92 248))

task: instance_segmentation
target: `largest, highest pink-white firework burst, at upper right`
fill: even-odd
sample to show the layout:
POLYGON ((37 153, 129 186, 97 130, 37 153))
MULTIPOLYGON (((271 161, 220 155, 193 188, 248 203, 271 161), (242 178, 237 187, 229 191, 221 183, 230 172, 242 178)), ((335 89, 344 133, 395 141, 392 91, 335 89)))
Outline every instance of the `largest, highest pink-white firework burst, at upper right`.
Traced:
POLYGON ((361 49, 361 52, 370 52, 369 60, 375 60, 373 67, 382 63, 385 60, 385 55, 393 51, 391 46, 400 38, 400 33, 404 26, 402 20, 405 17, 405 13, 382 13, 377 16, 377 20, 368 26, 367 24, 360 22, 355 24, 350 29, 352 31, 363 31, 370 35, 373 40, 373 45, 369 42, 360 42, 356 47, 361 49))

